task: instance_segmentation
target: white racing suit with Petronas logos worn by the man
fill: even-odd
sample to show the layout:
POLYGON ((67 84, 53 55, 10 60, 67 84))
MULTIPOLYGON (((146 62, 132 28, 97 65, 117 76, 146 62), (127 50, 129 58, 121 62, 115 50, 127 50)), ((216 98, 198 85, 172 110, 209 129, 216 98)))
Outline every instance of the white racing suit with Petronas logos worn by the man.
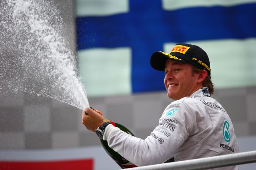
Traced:
MULTIPOLYGON (((226 110, 204 87, 166 107, 159 124, 146 139, 108 125, 104 140, 136 166, 219 156, 239 152, 233 124, 226 110)), ((237 170, 239 166, 223 167, 237 170)))

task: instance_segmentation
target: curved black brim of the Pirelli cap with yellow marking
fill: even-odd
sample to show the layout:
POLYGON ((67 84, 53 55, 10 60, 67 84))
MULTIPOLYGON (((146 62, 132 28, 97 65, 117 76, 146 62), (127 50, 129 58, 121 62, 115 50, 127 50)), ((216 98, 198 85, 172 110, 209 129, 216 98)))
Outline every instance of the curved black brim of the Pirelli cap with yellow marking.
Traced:
POLYGON ((166 67, 166 60, 171 59, 173 61, 177 62, 185 62, 187 61, 182 60, 181 58, 178 58, 176 56, 173 56, 171 54, 162 52, 162 51, 155 51, 151 55, 150 64, 153 67, 153 69, 159 70, 159 71, 165 71, 166 67))

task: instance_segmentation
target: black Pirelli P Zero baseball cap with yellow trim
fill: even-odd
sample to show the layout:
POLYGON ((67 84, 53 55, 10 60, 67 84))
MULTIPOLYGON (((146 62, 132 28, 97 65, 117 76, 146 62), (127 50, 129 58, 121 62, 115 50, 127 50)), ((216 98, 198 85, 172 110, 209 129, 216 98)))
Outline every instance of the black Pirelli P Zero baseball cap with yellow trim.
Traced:
POLYGON ((165 71, 166 60, 171 59, 173 61, 189 63, 196 66, 199 69, 205 69, 208 76, 211 76, 210 61, 208 55, 202 48, 188 44, 178 43, 172 51, 168 54, 162 51, 155 51, 151 55, 151 66, 159 71, 165 71))

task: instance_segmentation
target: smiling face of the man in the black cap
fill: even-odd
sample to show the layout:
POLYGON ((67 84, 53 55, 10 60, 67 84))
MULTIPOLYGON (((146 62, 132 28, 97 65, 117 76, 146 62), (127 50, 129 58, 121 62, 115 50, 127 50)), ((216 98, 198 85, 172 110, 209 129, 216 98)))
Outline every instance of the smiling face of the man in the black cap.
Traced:
POLYGON ((169 98, 179 100, 190 96, 200 88, 197 80, 198 75, 192 74, 192 65, 173 60, 166 61, 164 83, 169 98))

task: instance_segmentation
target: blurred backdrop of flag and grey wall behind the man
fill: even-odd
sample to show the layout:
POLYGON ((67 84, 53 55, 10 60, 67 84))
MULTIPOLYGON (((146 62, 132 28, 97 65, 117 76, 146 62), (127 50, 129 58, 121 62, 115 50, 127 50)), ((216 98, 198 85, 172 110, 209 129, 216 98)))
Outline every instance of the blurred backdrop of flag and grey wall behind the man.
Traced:
MULTIPOLYGON (((215 83, 212 97, 230 115, 240 151, 256 150, 256 0, 50 2, 62 18, 58 31, 76 56, 90 106, 107 119, 146 138, 172 102, 166 96, 164 73, 151 69, 151 54, 169 53, 176 43, 192 43, 210 58, 215 83)), ((2 12, 0 21, 4 17, 2 12)), ((1 22, 2 31, 6 29, 3 25, 1 22)), ((1 48, 2 55, 8 53, 1 48)), ((6 67, 4 62, 0 64, 6 67)), ((7 77, 0 78, 3 90, 7 77)), ((33 165, 37 169, 120 169, 97 135, 83 127, 81 112, 53 98, 2 93, 0 169, 33 169, 33 165)), ((241 165, 240 169, 252 170, 255 165, 241 165)))

